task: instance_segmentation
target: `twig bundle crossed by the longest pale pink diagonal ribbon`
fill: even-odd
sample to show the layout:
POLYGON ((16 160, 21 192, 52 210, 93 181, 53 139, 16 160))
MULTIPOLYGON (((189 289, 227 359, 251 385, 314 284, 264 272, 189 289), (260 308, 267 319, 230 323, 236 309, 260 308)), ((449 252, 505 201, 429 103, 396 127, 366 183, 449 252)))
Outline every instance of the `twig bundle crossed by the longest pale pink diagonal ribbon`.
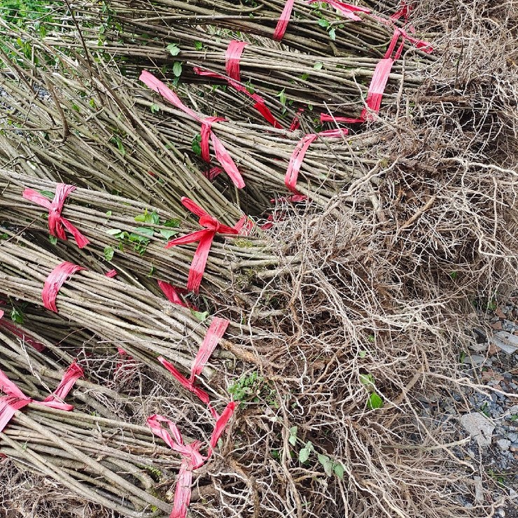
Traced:
MULTIPOLYGON (((151 74, 144 76, 143 73, 141 77, 169 101, 170 90, 167 86, 149 76, 151 74)), ((146 97, 148 99, 137 99, 137 104, 151 106, 154 102, 160 106, 160 113, 143 112, 143 117, 147 116, 157 124, 162 120, 162 134, 176 139, 187 151, 192 146, 193 137, 200 132, 200 124, 185 111, 160 103, 156 96, 154 99, 149 99, 148 95, 146 97), (168 113, 174 117, 166 118, 168 113)), ((246 194, 255 207, 267 207, 270 198, 289 191, 307 195, 314 202, 325 205, 339 190, 379 162, 362 156, 367 154, 369 146, 377 143, 375 137, 346 139, 346 130, 309 134, 311 142, 305 146, 304 153, 298 153, 301 139, 310 138, 302 131, 287 132, 267 126, 230 122, 216 122, 213 127, 234 162, 239 165, 246 183, 246 194), (358 149, 365 151, 359 155, 358 149), (289 173, 295 169, 295 181, 290 181, 289 173), (299 171, 300 179, 297 180, 299 171)))

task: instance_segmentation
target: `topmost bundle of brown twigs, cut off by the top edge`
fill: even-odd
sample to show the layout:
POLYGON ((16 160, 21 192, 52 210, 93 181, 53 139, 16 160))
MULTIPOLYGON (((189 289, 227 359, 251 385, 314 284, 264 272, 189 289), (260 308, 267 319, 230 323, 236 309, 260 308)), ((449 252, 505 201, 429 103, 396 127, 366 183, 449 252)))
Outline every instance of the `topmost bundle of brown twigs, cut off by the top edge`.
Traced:
MULTIPOLYGON (((255 6, 230 1, 140 0, 110 2, 111 15, 127 34, 174 34, 182 25, 216 25, 248 34, 267 36, 282 41, 302 52, 314 55, 358 55, 381 57, 388 45, 393 22, 370 12, 368 8, 351 6, 335 9, 330 2, 307 3, 296 0, 291 13, 283 13, 285 0, 255 2, 255 6), (279 20, 283 18, 284 22, 279 20), (155 27, 160 26, 160 29, 155 27)), ((289 2, 288 2, 289 3, 289 2)), ((338 3, 338 2, 337 2, 338 3)), ((203 41, 200 34, 198 41, 203 41)))

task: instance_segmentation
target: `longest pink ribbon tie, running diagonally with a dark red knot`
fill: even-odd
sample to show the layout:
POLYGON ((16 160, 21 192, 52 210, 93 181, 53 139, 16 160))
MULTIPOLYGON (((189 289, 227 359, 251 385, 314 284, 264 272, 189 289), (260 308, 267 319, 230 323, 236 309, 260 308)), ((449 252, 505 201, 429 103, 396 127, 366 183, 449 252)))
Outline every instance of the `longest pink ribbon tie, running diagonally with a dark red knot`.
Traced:
POLYGON ((190 109, 188 106, 181 102, 178 95, 176 95, 172 90, 170 90, 162 81, 158 80, 153 76, 152 73, 144 70, 140 75, 140 80, 146 86, 150 87, 151 90, 159 93, 167 99, 173 106, 177 109, 183 111, 183 113, 187 113, 188 116, 192 117, 194 120, 197 120, 202 125, 202 141, 200 142, 200 146, 202 148, 202 158, 205 162, 210 161, 209 156, 209 138, 212 141, 212 147, 214 148, 214 155, 216 155, 216 160, 222 165, 225 172, 228 174, 230 180, 238 189, 244 188, 244 180, 241 176, 241 173, 237 169, 234 160, 225 149, 225 146, 221 143, 220 139, 216 137, 214 132, 211 130, 212 124, 216 122, 221 122, 225 120, 222 117, 202 117, 198 115, 195 111, 190 109))

